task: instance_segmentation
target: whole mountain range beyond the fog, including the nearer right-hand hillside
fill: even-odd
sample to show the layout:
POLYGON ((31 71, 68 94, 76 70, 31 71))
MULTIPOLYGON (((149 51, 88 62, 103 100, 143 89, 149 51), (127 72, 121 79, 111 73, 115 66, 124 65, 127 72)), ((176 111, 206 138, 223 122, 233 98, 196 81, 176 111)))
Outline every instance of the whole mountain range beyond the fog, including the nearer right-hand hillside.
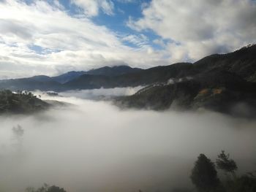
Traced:
POLYGON ((12 91, 67 91, 138 85, 146 88, 133 96, 117 98, 116 104, 154 110, 206 108, 251 114, 252 109, 256 109, 256 45, 233 53, 210 55, 194 64, 178 63, 150 69, 105 66, 88 72, 67 72, 57 77, 0 80, 1 89, 12 91), (243 108, 243 104, 249 107, 243 108))

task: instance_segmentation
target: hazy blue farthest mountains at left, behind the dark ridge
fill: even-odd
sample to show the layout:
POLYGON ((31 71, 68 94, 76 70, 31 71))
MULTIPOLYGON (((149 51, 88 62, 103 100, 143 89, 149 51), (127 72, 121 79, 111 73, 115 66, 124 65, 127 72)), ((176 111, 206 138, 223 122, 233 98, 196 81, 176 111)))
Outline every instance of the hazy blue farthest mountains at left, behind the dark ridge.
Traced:
MULTIPOLYGON (((80 80, 78 80, 79 85, 75 85, 73 80, 78 79, 78 77, 83 77, 83 74, 87 74, 88 77, 94 77, 94 80, 97 81, 97 78, 102 79, 102 76, 115 77, 118 75, 129 74, 133 72, 139 72, 143 69, 132 68, 130 66, 104 66, 99 69, 91 69, 88 72, 67 72, 55 77, 48 77, 45 75, 37 75, 34 77, 28 78, 19 78, 19 79, 10 79, 10 80, 0 80, 0 89, 10 89, 12 91, 18 90, 41 90, 41 91, 65 91, 68 89, 77 89, 77 88, 100 88, 102 85, 88 86, 89 82, 85 82, 85 86, 81 86, 80 80), (69 86, 69 85, 73 85, 69 86)), ((88 78, 86 80, 89 80, 88 78)), ((83 79, 83 78, 82 78, 83 79)), ((102 82, 103 83, 103 82, 102 82)), ((115 84, 116 85, 116 84, 115 84)), ((113 86, 110 86, 113 87, 113 86)))

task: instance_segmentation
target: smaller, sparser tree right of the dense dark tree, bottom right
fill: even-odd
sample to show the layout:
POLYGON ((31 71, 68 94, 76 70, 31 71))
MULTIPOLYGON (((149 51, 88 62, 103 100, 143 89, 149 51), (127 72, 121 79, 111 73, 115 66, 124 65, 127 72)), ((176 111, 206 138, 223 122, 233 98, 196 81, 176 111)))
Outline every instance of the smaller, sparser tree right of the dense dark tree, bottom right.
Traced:
POLYGON ((224 150, 218 155, 216 160, 217 169, 222 169, 224 172, 230 172, 235 176, 237 170, 236 162, 230 158, 230 154, 226 154, 224 150))

